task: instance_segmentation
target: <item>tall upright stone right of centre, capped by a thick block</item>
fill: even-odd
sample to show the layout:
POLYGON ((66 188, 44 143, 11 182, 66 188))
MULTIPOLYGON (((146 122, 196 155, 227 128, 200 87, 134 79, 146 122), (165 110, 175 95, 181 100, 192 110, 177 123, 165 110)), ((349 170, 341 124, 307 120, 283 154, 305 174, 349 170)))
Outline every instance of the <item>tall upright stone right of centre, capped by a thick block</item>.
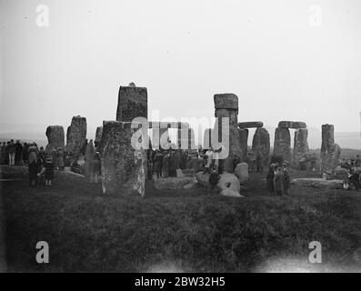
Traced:
POLYGON ((242 158, 242 148, 238 131, 238 97, 235 94, 216 94, 215 116, 218 118, 218 141, 222 136, 222 118, 229 118, 229 154, 225 159, 225 171, 233 173, 233 159, 242 158))

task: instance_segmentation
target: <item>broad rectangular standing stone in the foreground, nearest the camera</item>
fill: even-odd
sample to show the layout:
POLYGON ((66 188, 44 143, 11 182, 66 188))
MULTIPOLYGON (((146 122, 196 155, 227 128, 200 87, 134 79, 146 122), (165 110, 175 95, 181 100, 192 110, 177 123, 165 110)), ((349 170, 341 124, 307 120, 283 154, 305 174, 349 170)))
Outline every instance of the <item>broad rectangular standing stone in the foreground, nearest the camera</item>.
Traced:
POLYGON ((103 192, 110 196, 144 196, 146 154, 132 146, 137 129, 130 122, 105 121, 103 147, 103 192))

